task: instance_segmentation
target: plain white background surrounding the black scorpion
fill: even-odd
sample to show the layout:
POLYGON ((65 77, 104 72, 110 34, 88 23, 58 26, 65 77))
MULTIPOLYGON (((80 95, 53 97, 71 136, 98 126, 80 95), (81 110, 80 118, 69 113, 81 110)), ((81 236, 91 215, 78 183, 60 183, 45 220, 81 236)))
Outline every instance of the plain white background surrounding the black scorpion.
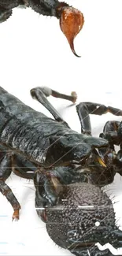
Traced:
MULTIPOLYGON (((45 85, 67 94, 76 91, 77 102, 100 102, 122 109, 121 0, 68 3, 80 9, 85 18, 83 30, 75 39, 76 53, 81 58, 72 54, 59 20, 39 16, 31 9, 14 9, 13 16, 0 24, 0 86, 49 117, 50 113, 31 99, 32 87, 45 85)), ((55 98, 50 98, 50 102, 71 128, 80 132, 75 106, 55 98)), ((113 119, 121 120, 121 117, 109 113, 92 116, 93 134, 98 135, 105 121, 113 119)), ((32 182, 12 175, 7 184, 17 196, 21 211, 20 221, 12 223, 12 207, 0 195, 0 254, 70 255, 50 240, 45 224, 37 217, 32 182)), ((122 229, 120 175, 116 175, 110 191, 117 201, 116 221, 122 229)))

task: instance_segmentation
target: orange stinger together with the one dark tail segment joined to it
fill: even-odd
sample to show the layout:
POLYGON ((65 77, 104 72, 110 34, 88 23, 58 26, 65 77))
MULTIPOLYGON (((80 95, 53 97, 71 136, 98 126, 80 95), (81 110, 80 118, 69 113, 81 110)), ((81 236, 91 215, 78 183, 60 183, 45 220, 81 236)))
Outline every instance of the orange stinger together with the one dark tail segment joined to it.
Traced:
MULTIPOLYGON (((24 0, 25 1, 25 0, 24 0)), ((74 49, 74 39, 76 35, 83 28, 84 17, 78 9, 69 6, 66 2, 59 2, 58 0, 43 0, 43 1, 28 1, 29 6, 35 10, 35 12, 46 15, 54 16, 60 20, 60 28, 68 39, 68 43, 72 49, 73 54, 76 54, 74 49)))

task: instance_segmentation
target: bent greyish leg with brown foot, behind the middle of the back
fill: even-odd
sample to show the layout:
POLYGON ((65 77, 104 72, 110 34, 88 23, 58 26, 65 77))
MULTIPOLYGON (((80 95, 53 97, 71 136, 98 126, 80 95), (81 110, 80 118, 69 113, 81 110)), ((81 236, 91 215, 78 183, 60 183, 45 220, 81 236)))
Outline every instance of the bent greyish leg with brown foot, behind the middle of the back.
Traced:
POLYGON ((47 100, 46 97, 49 97, 50 95, 56 98, 64 98, 69 101, 76 102, 76 98, 77 98, 76 93, 72 92, 72 95, 63 95, 57 91, 50 89, 49 87, 35 87, 31 89, 31 97, 35 98, 38 102, 43 104, 43 106, 45 106, 46 109, 50 111, 50 113, 53 115, 56 121, 63 122, 68 127, 68 124, 62 119, 62 117, 57 112, 57 110, 54 109, 54 106, 52 106, 50 102, 47 100))

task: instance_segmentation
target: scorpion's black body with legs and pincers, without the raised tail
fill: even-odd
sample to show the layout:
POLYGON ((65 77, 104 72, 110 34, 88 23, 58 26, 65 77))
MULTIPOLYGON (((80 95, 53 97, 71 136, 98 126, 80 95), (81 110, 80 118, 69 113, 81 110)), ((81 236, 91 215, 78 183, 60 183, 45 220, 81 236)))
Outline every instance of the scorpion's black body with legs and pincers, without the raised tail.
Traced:
POLYGON ((54 243, 78 256, 113 255, 109 249, 99 250, 96 243, 121 247, 122 232, 116 226, 113 203, 102 187, 111 184, 116 173, 121 175, 121 150, 116 154, 114 144, 120 145, 122 123, 107 122, 97 138, 91 135, 89 114, 121 116, 122 111, 79 103, 79 134, 47 100, 50 95, 76 102, 75 92, 63 95, 48 87, 31 89, 32 98, 53 119, 0 87, 0 191, 13 206, 13 219, 19 219, 20 203, 6 180, 12 172, 33 179, 35 208, 54 243))

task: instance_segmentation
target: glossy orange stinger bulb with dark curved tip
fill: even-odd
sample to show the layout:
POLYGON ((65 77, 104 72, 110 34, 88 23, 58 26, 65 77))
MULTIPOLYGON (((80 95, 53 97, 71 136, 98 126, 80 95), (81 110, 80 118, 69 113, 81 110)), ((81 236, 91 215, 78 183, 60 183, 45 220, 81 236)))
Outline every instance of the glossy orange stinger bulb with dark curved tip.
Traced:
POLYGON ((61 31, 65 34, 68 39, 68 43, 73 54, 76 57, 80 57, 76 54, 74 49, 74 39, 79 31, 83 28, 84 17, 83 13, 80 13, 78 9, 73 7, 64 7, 61 11, 60 27, 61 31))

